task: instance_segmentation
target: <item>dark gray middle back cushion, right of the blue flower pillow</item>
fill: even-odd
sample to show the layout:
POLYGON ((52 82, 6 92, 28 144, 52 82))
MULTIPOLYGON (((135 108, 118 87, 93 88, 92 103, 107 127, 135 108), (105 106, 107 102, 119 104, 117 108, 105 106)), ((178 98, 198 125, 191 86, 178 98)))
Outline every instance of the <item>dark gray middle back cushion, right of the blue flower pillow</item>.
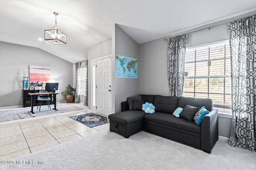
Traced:
POLYGON ((156 112, 172 114, 178 107, 178 97, 156 95, 154 100, 154 106, 156 107, 156 112))

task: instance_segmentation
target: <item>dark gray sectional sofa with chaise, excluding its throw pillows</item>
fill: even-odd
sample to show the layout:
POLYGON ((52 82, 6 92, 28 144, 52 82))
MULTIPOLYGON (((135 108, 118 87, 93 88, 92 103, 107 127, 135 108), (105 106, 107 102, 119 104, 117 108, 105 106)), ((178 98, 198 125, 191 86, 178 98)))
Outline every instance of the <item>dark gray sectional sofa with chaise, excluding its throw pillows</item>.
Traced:
POLYGON ((214 144, 218 141, 218 110, 212 109, 211 99, 160 95, 140 96, 142 101, 133 100, 134 108, 132 110, 126 101, 121 103, 121 112, 108 116, 110 131, 128 138, 130 135, 144 130, 211 153, 214 144), (156 112, 146 114, 142 111, 140 104, 144 102, 154 104, 156 112), (184 108, 186 105, 204 106, 210 113, 204 116, 201 125, 172 115, 177 107, 184 108))

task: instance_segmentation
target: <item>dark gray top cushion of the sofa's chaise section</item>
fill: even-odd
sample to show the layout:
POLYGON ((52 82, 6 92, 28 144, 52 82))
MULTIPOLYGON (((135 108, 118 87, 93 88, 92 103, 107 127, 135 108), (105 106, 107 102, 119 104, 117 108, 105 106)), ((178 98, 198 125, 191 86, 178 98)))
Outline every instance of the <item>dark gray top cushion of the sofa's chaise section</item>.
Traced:
POLYGON ((144 111, 128 110, 108 115, 108 119, 127 125, 142 120, 144 115, 144 111))

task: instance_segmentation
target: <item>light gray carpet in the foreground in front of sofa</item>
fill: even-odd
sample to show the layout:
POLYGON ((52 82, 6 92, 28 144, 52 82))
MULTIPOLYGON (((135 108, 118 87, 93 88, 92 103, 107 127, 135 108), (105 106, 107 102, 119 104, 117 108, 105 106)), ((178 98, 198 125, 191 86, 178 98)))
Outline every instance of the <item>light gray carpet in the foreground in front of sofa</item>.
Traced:
POLYGON ((255 170, 256 152, 219 140, 208 154, 144 131, 125 139, 106 130, 17 160, 35 164, 1 164, 1 170, 255 170))

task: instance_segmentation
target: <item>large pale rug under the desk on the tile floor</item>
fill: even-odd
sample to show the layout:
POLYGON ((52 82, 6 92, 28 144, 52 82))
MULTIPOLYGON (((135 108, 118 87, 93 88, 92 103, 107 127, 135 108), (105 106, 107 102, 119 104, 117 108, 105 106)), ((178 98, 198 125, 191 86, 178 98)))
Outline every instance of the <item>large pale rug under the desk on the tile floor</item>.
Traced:
POLYGON ((51 110, 48 108, 47 105, 41 106, 41 109, 39 111, 36 109, 37 106, 34 106, 34 114, 30 112, 31 107, 25 107, 24 109, 10 109, 5 111, 0 111, 0 122, 3 121, 11 121, 11 120, 17 120, 17 119, 24 119, 28 117, 36 117, 36 116, 42 116, 42 115, 50 115, 55 113, 63 113, 68 111, 76 111, 76 110, 82 110, 83 108, 73 106, 71 104, 57 104, 56 108, 58 110, 53 110, 54 105, 51 105, 51 110))

